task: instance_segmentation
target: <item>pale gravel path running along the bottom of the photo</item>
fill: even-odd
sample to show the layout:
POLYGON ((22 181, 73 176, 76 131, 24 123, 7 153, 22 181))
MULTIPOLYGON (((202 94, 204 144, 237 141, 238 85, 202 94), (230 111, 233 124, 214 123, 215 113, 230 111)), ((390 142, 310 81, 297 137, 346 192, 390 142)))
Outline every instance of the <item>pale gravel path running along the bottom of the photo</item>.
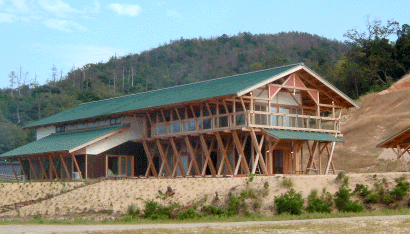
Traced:
POLYGON ((396 216, 366 216, 352 218, 328 218, 309 220, 285 220, 285 221, 249 221, 249 222, 227 222, 227 223, 185 223, 185 224, 134 224, 134 225, 0 225, 0 233, 78 233, 93 231, 122 231, 142 229, 177 229, 177 228, 205 228, 205 227, 238 227, 249 225, 278 225, 298 224, 314 222, 337 222, 355 220, 397 220, 410 219, 410 215, 396 216))

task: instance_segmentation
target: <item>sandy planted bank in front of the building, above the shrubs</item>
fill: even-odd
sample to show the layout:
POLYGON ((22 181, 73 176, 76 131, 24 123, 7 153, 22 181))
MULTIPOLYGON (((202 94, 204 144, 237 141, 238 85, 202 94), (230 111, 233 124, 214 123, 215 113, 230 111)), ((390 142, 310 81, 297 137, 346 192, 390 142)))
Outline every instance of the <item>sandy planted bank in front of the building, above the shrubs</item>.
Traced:
MULTIPOLYGON (((410 173, 383 173, 377 174, 348 174, 349 187, 354 189, 358 183, 369 185, 370 189, 374 188, 374 183, 386 178, 386 183, 390 188, 395 185, 394 179, 405 176, 410 178, 410 173)), ((75 189, 71 192, 53 197, 51 199, 22 207, 18 211, 8 211, 0 214, 0 218, 13 217, 30 217, 36 214, 41 214, 45 218, 67 217, 70 214, 94 214, 105 213, 113 215, 121 215, 127 212, 129 205, 143 209, 144 201, 156 200, 161 203, 177 202, 183 206, 191 206, 193 204, 215 204, 223 205, 229 197, 229 193, 239 194, 247 186, 254 191, 262 191, 265 183, 269 184, 269 192, 267 196, 260 196, 260 199, 250 200, 252 203, 260 202, 258 212, 272 215, 274 197, 288 191, 289 187, 285 186, 283 181, 291 178, 293 185, 291 186, 297 192, 301 193, 303 198, 307 200, 307 196, 313 189, 321 194, 323 189, 334 194, 340 187, 341 181, 336 180, 336 175, 315 176, 315 175, 300 175, 300 176, 257 176, 253 182, 246 185, 248 178, 233 177, 233 178, 178 178, 178 179, 126 179, 126 180, 106 180, 96 184, 88 185, 82 188, 75 189), (163 201, 158 197, 158 190, 165 192, 167 187, 171 186, 175 191, 173 197, 163 201), (218 193, 218 201, 215 200, 216 192, 218 193), (112 212, 111 212, 112 211, 112 212)), ((26 186, 29 183, 14 183, 3 184, 3 190, 12 191, 12 188, 20 186, 27 188, 30 193, 35 194, 42 191, 46 193, 44 183, 31 183, 31 186, 26 186), (10 188, 9 188, 10 187, 10 188)), ((65 186, 75 186, 76 183, 66 182, 65 186)), ((59 183, 52 185, 60 188, 59 183)), ((52 191, 58 189, 50 188, 52 191)), ((20 193, 21 191, 19 191, 20 193)), ((23 194, 25 193, 22 192, 23 194)), ((0 200, 4 200, 6 193, 1 193, 0 200)), ((7 193, 7 196, 14 196, 7 193)), ((16 196, 18 194, 16 193, 16 196)))

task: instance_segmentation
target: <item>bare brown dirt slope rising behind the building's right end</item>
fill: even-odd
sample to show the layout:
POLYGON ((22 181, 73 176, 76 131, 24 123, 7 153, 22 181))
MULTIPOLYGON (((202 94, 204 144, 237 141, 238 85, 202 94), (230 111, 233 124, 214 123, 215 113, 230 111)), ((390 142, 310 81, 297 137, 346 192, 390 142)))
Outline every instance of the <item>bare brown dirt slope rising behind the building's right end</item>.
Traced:
POLYGON ((376 145, 410 126, 410 74, 357 102, 361 108, 345 112, 341 120, 346 142, 336 147, 337 168, 347 172, 395 171, 394 153, 376 145))

